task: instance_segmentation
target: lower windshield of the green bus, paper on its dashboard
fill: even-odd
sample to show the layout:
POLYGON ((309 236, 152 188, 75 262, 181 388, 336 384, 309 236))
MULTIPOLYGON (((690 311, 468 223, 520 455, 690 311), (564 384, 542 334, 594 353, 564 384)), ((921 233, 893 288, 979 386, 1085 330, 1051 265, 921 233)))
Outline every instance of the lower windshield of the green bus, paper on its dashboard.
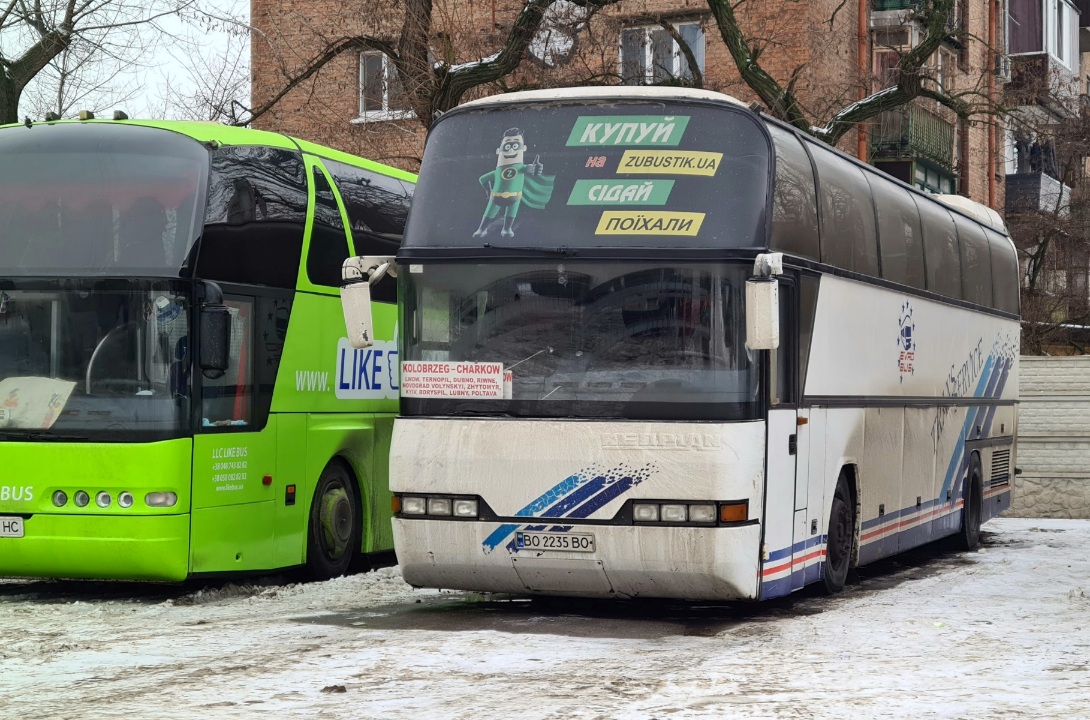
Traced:
POLYGON ((189 427, 179 281, 0 280, 0 440, 157 440, 189 427))

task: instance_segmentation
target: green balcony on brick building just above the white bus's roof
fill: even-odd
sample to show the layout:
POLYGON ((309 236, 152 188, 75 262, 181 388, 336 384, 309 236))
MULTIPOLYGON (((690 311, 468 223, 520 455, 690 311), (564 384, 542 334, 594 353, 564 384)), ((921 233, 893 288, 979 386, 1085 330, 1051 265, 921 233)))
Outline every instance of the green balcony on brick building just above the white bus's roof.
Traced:
POLYGON ((925 158, 954 167, 954 125, 923 108, 886 110, 871 127, 872 160, 925 158))

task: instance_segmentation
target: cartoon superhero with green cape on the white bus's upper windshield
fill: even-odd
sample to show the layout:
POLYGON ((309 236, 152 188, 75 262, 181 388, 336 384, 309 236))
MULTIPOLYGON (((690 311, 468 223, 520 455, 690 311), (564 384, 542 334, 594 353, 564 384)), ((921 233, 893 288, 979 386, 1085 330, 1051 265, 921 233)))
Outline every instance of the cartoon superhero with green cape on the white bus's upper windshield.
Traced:
POLYGON ((553 197, 553 175, 543 175, 544 168, 540 156, 534 156, 533 162, 523 162, 526 151, 522 131, 512 127, 504 133, 504 139, 496 148, 496 169, 481 175, 481 186, 488 193, 488 206, 481 218, 481 227, 473 233, 474 237, 488 234, 488 225, 504 210, 504 229, 500 235, 514 236, 514 218, 519 207, 525 203, 532 208, 542 210, 553 197))

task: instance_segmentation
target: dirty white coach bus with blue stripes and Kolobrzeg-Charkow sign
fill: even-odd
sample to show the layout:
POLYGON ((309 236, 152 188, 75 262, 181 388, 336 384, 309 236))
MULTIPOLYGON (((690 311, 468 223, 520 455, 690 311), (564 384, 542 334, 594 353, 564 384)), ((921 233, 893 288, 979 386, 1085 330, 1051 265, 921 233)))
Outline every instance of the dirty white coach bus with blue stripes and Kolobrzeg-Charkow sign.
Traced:
MULTIPOLYGON (((378 261, 349 265, 346 282, 378 261)), ((945 536, 971 548, 1009 505, 1018 267, 998 216, 728 96, 447 113, 396 268, 411 585, 835 593, 945 536)), ((344 293, 359 343, 366 288, 344 293)))

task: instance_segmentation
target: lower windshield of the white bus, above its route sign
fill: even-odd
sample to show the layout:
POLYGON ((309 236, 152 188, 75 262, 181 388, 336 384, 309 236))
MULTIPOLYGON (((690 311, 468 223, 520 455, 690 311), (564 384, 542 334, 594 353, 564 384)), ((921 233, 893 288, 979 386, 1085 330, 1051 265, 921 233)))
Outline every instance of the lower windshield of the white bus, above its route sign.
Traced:
POLYGON ((498 363, 510 388, 504 400, 413 396, 403 376, 402 413, 753 418, 746 274, 722 264, 417 266, 402 274, 402 368, 498 363))

